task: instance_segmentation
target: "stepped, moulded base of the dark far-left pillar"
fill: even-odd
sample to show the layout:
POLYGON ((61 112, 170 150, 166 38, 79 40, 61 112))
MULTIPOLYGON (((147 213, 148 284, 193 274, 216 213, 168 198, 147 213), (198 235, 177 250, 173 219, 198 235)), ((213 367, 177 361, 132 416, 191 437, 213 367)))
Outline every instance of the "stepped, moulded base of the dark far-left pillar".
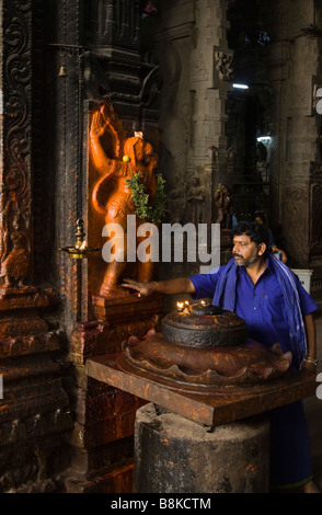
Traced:
POLYGON ((49 493, 60 488, 72 427, 59 364, 57 294, 32 287, 0 290, 0 492, 49 493), (20 293, 19 293, 20 291, 20 293))

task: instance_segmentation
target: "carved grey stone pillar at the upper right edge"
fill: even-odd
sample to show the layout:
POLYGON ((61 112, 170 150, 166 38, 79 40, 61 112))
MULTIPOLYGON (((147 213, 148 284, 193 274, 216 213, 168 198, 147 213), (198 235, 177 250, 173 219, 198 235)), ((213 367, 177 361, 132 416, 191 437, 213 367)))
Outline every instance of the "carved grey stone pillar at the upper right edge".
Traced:
POLYGON ((314 91, 322 83, 320 32, 315 26, 321 9, 317 2, 300 1, 297 11, 290 12, 280 2, 264 2, 261 10, 272 37, 265 59, 274 98, 273 229, 279 225, 290 266, 314 270, 315 295, 318 283, 321 286, 321 124, 314 99, 314 91))

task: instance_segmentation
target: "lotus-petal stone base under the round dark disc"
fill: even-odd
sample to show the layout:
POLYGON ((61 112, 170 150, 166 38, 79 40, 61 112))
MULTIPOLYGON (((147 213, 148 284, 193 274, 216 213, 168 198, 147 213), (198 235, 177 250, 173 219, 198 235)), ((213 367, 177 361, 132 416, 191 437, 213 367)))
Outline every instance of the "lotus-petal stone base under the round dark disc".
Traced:
POLYGON ((291 353, 281 353, 278 344, 269 350, 248 340, 239 346, 195 347, 165 340, 162 333, 143 340, 130 337, 123 347, 123 365, 164 379, 185 389, 219 386, 250 386, 284 375, 291 364, 291 353))

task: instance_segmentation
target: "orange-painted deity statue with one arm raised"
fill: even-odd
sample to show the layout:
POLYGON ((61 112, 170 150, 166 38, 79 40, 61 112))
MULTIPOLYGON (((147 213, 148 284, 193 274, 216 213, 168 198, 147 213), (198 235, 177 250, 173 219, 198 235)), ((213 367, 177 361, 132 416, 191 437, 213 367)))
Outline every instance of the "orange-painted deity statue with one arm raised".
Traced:
MULTIPOLYGON (((118 286, 118 279, 127 265, 127 215, 136 214, 127 180, 140 173, 145 193, 149 194, 149 199, 152 201, 157 190, 158 156, 141 134, 122 141, 117 121, 108 104, 103 104, 100 111, 93 114, 90 146, 93 164, 100 174, 92 192, 93 207, 104 216, 105 224, 118 224, 124 231, 123 241, 119 243, 124 261, 111 261, 107 264, 100 295, 127 295, 125 288, 118 286)), ((138 228, 145 220, 137 217, 136 222, 138 228)), ((145 237, 137 238, 136 244, 143 239, 145 237)), ((114 253, 117 254, 117 238, 114 241, 114 253)), ((152 261, 137 261, 138 281, 148 282, 152 278, 152 261)))

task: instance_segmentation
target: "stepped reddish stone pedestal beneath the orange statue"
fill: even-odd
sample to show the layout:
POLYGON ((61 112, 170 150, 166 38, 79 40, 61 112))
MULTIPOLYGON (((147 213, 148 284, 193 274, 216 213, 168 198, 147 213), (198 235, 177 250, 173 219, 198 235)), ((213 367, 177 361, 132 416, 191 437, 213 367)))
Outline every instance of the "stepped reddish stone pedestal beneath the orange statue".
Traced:
POLYGON ((93 306, 99 320, 78 322, 70 337, 74 425, 66 437, 71 458, 65 488, 67 493, 130 493, 135 413, 145 401, 88 377, 85 362, 158 327, 162 297, 97 296, 93 306))

